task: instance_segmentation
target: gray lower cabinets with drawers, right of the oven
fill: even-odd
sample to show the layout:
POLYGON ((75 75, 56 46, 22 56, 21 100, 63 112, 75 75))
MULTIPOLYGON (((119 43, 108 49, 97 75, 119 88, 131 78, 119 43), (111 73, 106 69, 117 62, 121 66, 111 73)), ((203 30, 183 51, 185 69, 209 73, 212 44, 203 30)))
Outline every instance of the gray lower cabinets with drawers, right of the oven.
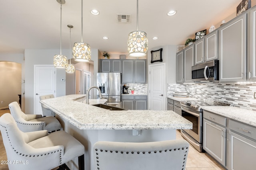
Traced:
POLYGON ((256 128, 203 111, 203 149, 228 170, 255 169, 256 128))

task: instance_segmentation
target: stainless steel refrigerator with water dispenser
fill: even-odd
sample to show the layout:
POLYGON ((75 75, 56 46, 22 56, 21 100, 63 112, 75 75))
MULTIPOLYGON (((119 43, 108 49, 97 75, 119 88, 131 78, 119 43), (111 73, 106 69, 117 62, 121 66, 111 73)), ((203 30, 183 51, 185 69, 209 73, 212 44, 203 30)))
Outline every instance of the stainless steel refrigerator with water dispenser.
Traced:
POLYGON ((101 90, 102 97, 108 100, 106 104, 121 107, 121 73, 98 72, 97 86, 101 90))

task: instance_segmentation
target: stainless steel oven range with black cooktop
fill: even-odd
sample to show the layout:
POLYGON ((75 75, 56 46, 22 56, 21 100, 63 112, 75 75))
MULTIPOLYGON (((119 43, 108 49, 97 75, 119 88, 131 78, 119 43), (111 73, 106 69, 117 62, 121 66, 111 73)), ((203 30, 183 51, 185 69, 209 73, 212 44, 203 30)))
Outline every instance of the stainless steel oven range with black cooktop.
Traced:
POLYGON ((202 152, 203 143, 203 109, 202 106, 230 106, 229 104, 210 100, 181 101, 182 117, 193 123, 193 128, 182 130, 181 135, 199 152, 202 152))

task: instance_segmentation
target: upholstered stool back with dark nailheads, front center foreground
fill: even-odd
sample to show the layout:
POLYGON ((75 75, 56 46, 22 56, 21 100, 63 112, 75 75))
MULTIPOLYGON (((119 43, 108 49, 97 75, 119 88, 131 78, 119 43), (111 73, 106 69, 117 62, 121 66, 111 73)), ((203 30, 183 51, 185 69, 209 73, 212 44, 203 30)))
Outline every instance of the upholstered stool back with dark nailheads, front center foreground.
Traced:
POLYGON ((189 144, 185 140, 94 144, 97 170, 185 170, 189 144))

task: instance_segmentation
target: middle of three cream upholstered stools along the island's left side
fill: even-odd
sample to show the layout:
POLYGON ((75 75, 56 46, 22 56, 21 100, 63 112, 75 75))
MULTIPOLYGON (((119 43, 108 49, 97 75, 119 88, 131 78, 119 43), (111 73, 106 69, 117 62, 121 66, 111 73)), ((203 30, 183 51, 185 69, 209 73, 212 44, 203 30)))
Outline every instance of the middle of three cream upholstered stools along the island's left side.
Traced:
POLYGON ((48 130, 48 132, 53 132, 60 130, 60 122, 56 117, 47 116, 42 117, 42 115, 29 115, 21 111, 20 106, 17 102, 12 102, 9 104, 10 113, 14 117, 18 127, 23 132, 48 130))

